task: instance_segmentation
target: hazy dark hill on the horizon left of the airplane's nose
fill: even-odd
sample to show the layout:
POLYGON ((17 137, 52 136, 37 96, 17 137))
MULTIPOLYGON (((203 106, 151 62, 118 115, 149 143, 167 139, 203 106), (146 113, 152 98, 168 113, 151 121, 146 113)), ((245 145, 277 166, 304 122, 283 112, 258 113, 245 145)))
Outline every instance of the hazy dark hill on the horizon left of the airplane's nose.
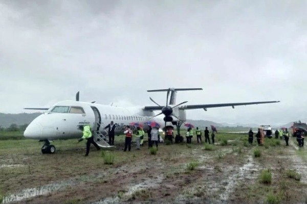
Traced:
POLYGON ((17 125, 29 124, 37 116, 42 113, 19 113, 19 114, 6 114, 0 113, 0 126, 9 127, 15 123, 17 125))

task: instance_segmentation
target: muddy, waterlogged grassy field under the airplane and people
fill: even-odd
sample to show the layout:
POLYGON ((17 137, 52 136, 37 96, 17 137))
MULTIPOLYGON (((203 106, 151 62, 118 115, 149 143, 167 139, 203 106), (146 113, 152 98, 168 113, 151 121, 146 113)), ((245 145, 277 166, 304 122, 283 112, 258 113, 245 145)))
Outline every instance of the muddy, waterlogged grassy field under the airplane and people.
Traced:
MULTIPOLYGON (((147 143, 123 152, 116 147, 89 157, 85 141, 54 141, 56 154, 42 155, 41 142, 1 135, 0 203, 305 203, 307 156, 290 146, 246 134, 219 132, 215 144, 147 143), (13 138, 13 139, 10 139, 13 138)), ((184 134, 184 132, 182 132, 184 134)), ((147 136, 145 136, 145 141, 147 136)), ((211 137, 210 137, 211 139, 211 137)))

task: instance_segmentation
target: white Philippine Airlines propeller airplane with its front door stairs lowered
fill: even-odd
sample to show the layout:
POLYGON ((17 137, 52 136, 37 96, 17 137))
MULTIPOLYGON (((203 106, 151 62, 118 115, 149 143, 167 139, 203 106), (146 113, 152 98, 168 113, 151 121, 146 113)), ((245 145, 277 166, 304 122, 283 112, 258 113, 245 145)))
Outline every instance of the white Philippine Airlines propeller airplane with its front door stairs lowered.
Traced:
MULTIPOLYGON (((186 110, 204 109, 216 107, 232 107, 255 104, 278 103, 280 101, 258 101, 249 103, 229 103, 229 104, 207 104, 207 105, 183 105, 184 101, 176 105, 177 91, 203 90, 202 88, 185 88, 185 89, 158 89, 148 90, 148 92, 167 92, 166 106, 160 106, 151 97, 149 99, 157 106, 145 107, 117 107, 79 101, 79 91, 76 94, 76 100, 63 100, 54 104, 50 108, 24 108, 28 110, 44 110, 45 112, 36 117, 26 128, 24 136, 30 139, 43 141, 41 147, 42 154, 54 154, 55 146, 50 142, 53 140, 67 140, 82 137, 79 130, 80 125, 89 124, 92 126, 94 141, 101 147, 112 147, 108 144, 107 132, 104 127, 111 121, 114 121, 115 134, 122 134, 125 128, 134 129, 131 122, 156 121, 165 127, 167 123, 176 125, 177 133, 180 135, 180 126, 186 121, 186 110), (170 99, 168 103, 168 98, 170 99), (161 111, 157 114, 156 111, 161 111), (163 124, 164 121, 164 124, 163 124)), ((148 128, 144 125, 144 131, 148 128)), ((165 130, 166 131, 166 130, 165 130)))

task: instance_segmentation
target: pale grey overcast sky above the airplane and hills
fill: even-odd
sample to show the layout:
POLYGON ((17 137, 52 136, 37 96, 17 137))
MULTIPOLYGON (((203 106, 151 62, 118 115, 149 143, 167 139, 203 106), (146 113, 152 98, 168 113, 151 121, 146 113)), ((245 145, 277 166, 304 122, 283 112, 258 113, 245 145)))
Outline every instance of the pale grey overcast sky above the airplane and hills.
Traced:
POLYGON ((0 0, 0 112, 65 99, 118 106, 280 100, 188 119, 307 120, 307 1, 0 0))

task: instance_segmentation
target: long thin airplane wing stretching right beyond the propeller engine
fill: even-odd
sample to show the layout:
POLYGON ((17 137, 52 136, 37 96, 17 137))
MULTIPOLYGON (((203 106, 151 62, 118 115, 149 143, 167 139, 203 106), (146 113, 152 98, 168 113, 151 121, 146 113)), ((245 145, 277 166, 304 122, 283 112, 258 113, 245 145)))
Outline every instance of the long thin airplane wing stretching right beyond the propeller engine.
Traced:
POLYGON ((247 102, 247 103, 231 103, 231 104, 205 104, 205 105, 186 105, 180 106, 180 110, 190 110, 190 109, 204 109, 207 111, 207 108, 217 108, 217 107, 227 107, 231 106, 246 106, 246 105, 257 105, 257 104, 270 104, 270 103, 279 103, 280 101, 258 101, 258 102, 247 102))

